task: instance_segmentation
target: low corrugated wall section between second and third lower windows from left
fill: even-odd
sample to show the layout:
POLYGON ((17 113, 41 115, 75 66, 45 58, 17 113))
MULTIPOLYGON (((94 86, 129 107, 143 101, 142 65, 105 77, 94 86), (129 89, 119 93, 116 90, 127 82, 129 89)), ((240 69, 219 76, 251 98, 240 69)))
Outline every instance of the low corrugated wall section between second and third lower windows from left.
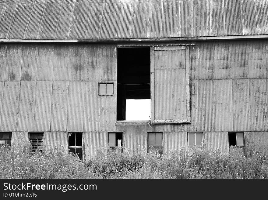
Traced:
POLYGON ((44 132, 44 145, 46 151, 53 149, 61 149, 67 152, 68 148, 68 133, 67 132, 44 132))

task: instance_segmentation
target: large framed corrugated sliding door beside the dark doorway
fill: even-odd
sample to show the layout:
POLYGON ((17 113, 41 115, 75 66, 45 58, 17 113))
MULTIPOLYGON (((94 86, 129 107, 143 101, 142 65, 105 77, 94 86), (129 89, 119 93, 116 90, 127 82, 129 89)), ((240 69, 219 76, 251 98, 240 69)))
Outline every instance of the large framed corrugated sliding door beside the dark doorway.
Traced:
POLYGON ((151 122, 189 123, 189 46, 151 47, 151 122))

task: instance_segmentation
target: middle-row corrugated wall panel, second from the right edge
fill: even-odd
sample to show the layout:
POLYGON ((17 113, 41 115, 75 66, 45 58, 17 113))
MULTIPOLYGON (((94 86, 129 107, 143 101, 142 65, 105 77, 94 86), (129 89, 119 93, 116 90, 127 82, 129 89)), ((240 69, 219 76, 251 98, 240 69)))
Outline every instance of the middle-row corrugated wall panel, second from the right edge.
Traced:
POLYGON ((234 131, 250 130, 249 79, 233 79, 234 131))

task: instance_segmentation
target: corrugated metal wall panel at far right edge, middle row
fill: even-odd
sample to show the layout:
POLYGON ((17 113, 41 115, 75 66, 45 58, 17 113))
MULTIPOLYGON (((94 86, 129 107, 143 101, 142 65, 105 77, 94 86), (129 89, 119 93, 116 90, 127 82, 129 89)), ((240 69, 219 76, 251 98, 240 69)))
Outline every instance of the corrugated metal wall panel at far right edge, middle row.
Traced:
POLYGON ((266 79, 249 80, 251 130, 268 128, 266 79))

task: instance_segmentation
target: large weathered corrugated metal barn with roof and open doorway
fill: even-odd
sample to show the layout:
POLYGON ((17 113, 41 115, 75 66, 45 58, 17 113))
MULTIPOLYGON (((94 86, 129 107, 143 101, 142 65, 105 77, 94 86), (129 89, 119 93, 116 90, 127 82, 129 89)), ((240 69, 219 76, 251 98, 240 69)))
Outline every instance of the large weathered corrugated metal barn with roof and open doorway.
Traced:
POLYGON ((1 145, 265 150, 267 88, 268 0, 0 0, 1 145))

